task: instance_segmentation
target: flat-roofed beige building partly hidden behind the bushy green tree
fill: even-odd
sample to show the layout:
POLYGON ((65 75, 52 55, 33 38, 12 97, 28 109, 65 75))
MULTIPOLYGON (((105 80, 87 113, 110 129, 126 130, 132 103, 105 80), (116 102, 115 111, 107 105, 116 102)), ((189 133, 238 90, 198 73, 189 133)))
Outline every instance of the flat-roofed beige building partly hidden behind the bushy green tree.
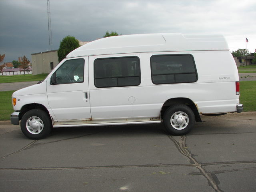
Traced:
MULTIPOLYGON (((80 46, 90 41, 79 41, 80 46)), ((58 64, 58 50, 33 53, 31 54, 31 62, 33 66, 33 75, 50 73, 58 64)))

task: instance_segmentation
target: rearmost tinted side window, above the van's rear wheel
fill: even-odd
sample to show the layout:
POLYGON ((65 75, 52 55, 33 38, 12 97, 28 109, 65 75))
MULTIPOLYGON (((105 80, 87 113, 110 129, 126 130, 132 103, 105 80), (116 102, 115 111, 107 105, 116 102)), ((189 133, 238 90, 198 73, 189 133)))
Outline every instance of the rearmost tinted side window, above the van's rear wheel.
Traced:
POLYGON ((194 58, 190 54, 154 55, 150 58, 154 84, 188 83, 198 80, 194 58))

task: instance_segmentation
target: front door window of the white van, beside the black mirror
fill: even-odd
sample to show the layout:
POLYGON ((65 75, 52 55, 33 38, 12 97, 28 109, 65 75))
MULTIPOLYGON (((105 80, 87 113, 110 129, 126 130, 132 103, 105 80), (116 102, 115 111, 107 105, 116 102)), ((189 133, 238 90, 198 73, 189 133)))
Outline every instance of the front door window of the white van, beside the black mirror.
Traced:
POLYGON ((64 62, 54 73, 54 83, 67 84, 84 82, 84 59, 72 59, 64 62))

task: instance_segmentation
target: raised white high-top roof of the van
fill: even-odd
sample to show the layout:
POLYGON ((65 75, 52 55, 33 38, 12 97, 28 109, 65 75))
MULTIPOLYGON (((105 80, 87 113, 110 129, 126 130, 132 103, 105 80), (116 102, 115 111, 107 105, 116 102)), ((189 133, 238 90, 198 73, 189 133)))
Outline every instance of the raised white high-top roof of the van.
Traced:
POLYGON ((85 44, 68 57, 136 52, 229 50, 221 34, 137 34, 102 38, 85 44))

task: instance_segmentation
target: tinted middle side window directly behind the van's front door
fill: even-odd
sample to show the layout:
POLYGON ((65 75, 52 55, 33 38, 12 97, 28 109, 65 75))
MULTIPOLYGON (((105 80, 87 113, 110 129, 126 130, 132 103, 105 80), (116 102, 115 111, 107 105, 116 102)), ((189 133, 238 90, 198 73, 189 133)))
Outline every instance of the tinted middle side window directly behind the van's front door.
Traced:
POLYGON ((94 85, 98 88, 138 86, 140 60, 138 57, 104 58, 94 61, 94 85))

